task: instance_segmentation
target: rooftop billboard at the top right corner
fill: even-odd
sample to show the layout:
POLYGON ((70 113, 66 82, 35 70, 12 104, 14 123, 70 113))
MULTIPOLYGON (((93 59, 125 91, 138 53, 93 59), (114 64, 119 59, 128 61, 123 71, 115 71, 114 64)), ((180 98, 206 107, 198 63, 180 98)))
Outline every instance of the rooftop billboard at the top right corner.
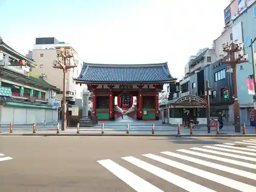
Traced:
POLYGON ((242 14, 254 2, 256 2, 256 0, 234 0, 224 9, 225 24, 231 19, 237 18, 237 16, 242 14))

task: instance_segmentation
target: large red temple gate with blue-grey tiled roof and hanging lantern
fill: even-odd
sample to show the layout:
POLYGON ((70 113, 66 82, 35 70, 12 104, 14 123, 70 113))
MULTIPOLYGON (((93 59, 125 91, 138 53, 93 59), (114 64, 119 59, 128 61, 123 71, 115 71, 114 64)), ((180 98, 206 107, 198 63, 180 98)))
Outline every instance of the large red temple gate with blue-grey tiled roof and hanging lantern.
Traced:
POLYGON ((163 84, 175 83, 176 80, 170 75, 167 62, 145 65, 85 63, 81 74, 75 79, 78 84, 87 84, 92 91, 93 115, 104 121, 116 117, 115 97, 118 107, 126 112, 133 108, 133 97, 137 97, 137 109, 129 111, 133 113, 130 117, 159 120, 158 94, 163 84))

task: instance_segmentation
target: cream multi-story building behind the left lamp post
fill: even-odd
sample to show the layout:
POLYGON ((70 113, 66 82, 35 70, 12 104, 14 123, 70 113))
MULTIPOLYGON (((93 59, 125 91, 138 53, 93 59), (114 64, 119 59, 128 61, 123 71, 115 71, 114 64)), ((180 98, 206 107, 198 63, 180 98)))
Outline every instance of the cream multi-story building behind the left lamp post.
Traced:
MULTIPOLYGON (((55 47, 66 47, 73 49, 70 44, 66 42, 60 42, 54 37, 48 38, 36 38, 36 44, 33 51, 28 55, 37 63, 38 68, 33 68, 32 72, 37 75, 46 76, 46 81, 60 89, 56 98, 62 99, 63 90, 63 72, 61 70, 53 69, 53 60, 57 60, 57 54, 55 47)), ((83 100, 83 95, 88 95, 86 86, 79 86, 74 83, 73 78, 76 78, 83 66, 83 61, 75 51, 74 59, 78 60, 78 66, 67 72, 67 88, 66 97, 69 103, 69 113, 71 113, 71 106, 77 105, 79 107, 79 115, 88 116, 88 100, 83 100)), ((71 61, 72 62, 72 61, 71 61)), ((87 98, 87 97, 84 97, 87 98)))

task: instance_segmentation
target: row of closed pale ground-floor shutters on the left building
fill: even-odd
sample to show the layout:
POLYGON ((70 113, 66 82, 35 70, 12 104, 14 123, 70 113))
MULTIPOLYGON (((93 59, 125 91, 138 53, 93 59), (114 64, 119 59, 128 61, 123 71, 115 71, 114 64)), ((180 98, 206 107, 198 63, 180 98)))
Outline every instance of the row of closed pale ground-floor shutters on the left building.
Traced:
POLYGON ((0 106, 1 124, 56 123, 56 109, 20 108, 17 106, 0 106))

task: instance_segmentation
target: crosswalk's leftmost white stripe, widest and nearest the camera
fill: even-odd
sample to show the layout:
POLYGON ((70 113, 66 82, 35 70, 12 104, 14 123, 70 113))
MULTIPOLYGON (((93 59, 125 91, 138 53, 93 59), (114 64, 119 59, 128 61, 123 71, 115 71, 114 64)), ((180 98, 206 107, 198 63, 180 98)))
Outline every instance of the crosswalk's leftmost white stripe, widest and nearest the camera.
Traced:
POLYGON ((100 160, 97 162, 137 192, 164 192, 110 159, 100 160))

